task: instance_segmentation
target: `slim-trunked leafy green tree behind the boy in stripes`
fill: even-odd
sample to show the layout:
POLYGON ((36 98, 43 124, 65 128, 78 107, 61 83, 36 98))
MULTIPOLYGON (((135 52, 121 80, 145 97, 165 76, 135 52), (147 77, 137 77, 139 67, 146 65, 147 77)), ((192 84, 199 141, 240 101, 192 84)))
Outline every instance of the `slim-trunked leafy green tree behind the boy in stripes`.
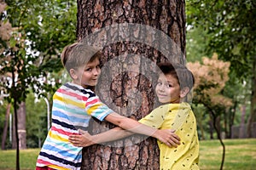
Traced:
MULTIPOLYGON (((60 51, 75 39, 74 3, 35 2, 5 1, 8 8, 1 13, 1 21, 9 20, 11 26, 16 28, 11 31, 9 40, 1 39, 3 50, 0 58, 1 94, 9 94, 6 99, 14 104, 16 146, 20 144, 18 132, 25 131, 23 127, 26 123, 26 113, 18 116, 19 103, 25 101, 29 89, 37 94, 55 91, 60 82, 53 80, 50 73, 61 70, 60 51), (64 30, 63 26, 67 29, 64 30), (23 131, 18 131, 18 127, 22 127, 23 131)), ((23 139, 26 138, 20 141, 23 139)), ((16 167, 20 169, 19 147, 16 156, 16 167)))

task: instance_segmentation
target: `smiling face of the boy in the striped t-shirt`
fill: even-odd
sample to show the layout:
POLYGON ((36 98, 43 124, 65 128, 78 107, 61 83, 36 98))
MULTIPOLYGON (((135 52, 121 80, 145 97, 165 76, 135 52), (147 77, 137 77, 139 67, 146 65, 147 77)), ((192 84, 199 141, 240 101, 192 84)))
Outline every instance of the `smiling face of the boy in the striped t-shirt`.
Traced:
POLYGON ((79 66, 74 70, 75 77, 73 82, 87 88, 88 86, 96 86, 98 77, 101 74, 100 60, 98 58, 87 63, 87 65, 79 66))

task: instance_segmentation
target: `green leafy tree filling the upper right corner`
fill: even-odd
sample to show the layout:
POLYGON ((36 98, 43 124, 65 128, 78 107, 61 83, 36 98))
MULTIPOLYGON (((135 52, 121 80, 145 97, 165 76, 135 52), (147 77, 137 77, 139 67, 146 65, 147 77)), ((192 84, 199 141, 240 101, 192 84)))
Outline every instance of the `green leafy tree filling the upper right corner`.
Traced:
POLYGON ((200 28, 207 32, 207 55, 217 52, 220 59, 230 61, 230 75, 235 76, 230 79, 234 80, 230 84, 238 82, 238 79, 241 84, 247 82, 250 88, 251 113, 247 131, 250 137, 256 117, 255 6, 253 0, 187 1, 188 25, 191 30, 200 28))

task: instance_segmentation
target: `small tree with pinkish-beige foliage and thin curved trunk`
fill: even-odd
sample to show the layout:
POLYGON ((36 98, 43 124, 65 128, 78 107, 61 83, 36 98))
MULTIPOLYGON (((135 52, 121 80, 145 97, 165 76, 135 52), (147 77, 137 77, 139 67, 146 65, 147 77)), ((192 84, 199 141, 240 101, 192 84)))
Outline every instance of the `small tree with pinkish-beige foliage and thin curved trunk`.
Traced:
POLYGON ((225 146, 221 136, 220 116, 225 116, 225 109, 233 104, 231 99, 221 94, 221 91, 225 86, 225 82, 229 80, 230 63, 218 60, 217 54, 213 54, 212 59, 205 57, 202 60, 202 65, 198 61, 188 63, 189 69, 195 75, 195 95, 193 99, 195 104, 204 105, 210 116, 212 116, 212 125, 223 146, 223 157, 220 167, 222 169, 224 166, 225 146))

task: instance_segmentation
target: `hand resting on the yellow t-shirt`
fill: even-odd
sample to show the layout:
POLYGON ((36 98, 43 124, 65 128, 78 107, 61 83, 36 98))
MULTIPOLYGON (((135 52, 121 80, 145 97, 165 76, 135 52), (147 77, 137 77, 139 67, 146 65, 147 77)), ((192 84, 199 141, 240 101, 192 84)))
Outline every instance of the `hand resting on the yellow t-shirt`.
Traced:
POLYGON ((155 137, 169 147, 177 148, 177 145, 180 144, 179 137, 175 134, 175 130, 172 129, 159 129, 155 132, 155 137))

